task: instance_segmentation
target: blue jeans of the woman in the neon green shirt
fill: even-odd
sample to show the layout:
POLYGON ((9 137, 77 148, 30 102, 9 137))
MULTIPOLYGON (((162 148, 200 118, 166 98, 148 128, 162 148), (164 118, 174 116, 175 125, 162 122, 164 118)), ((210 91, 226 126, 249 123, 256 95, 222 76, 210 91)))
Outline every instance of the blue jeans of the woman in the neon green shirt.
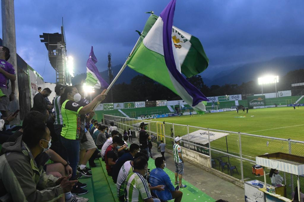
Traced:
POLYGON ((67 150, 67 156, 73 170, 72 177, 74 177, 77 174, 77 166, 79 163, 80 140, 70 140, 61 136, 61 143, 67 150))

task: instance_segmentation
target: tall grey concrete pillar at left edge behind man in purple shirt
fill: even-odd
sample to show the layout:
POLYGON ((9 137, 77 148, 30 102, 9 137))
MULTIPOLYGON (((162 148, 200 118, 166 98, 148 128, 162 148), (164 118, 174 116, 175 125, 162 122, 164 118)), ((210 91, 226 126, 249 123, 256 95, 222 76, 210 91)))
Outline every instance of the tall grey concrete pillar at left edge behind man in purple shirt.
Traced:
MULTIPOLYGON (((18 68, 17 68, 17 54, 16 54, 16 31, 15 31, 15 8, 13 0, 1 0, 1 14, 2 14, 2 40, 3 45, 9 48, 11 63, 16 72, 15 81, 15 100, 11 102, 11 112, 19 109, 19 92, 18 92, 18 68)), ((9 92, 11 92, 11 85, 9 85, 9 92)), ((20 116, 18 114, 13 124, 20 123, 20 116)))

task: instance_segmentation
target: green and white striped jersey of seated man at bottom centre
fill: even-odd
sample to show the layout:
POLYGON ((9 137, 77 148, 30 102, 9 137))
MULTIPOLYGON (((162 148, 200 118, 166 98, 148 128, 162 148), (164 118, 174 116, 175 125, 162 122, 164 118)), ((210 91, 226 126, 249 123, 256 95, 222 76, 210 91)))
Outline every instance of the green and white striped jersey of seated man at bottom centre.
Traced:
POLYGON ((125 201, 143 202, 150 197, 151 192, 147 180, 137 172, 130 173, 125 184, 125 201))

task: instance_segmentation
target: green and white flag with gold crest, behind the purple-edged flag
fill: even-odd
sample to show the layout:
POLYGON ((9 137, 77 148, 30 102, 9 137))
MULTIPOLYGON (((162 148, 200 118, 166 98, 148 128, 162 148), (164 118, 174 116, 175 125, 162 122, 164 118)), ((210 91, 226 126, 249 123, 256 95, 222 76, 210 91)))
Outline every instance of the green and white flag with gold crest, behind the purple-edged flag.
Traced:
MULTIPOLYGON (((150 15, 140 36, 139 42, 146 37, 157 18, 157 15, 150 15)), ((208 67, 209 59, 206 56, 202 43, 198 38, 172 26, 172 40, 174 42, 174 47, 176 48, 178 61, 181 65, 181 73, 186 77, 190 78, 197 75, 208 67)))

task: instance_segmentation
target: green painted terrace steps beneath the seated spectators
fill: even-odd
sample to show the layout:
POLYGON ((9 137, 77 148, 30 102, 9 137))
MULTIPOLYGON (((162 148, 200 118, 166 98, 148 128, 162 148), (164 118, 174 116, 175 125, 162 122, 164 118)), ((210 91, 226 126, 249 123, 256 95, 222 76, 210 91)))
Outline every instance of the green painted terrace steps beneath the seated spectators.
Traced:
MULTIPOLYGON (((86 197, 89 201, 109 201, 109 202, 118 202, 117 194, 116 194, 116 184, 114 184, 112 177, 107 175, 107 171, 105 169, 105 162, 101 160, 95 160, 97 167, 92 168, 93 176, 91 178, 81 177, 79 180, 81 183, 87 183, 88 186, 85 188, 89 192, 88 194, 81 195, 82 197, 86 197)), ((155 168, 154 160, 152 158, 149 159, 148 167, 150 170, 155 168)), ((170 171, 168 168, 165 168, 164 171, 169 175, 171 181, 174 182, 174 172, 170 171)), ((215 201, 207 194, 190 184, 189 182, 183 180, 183 184, 186 184, 187 187, 180 189, 183 192, 183 202, 188 201, 215 201)), ((174 200, 171 200, 174 201, 174 200)))

